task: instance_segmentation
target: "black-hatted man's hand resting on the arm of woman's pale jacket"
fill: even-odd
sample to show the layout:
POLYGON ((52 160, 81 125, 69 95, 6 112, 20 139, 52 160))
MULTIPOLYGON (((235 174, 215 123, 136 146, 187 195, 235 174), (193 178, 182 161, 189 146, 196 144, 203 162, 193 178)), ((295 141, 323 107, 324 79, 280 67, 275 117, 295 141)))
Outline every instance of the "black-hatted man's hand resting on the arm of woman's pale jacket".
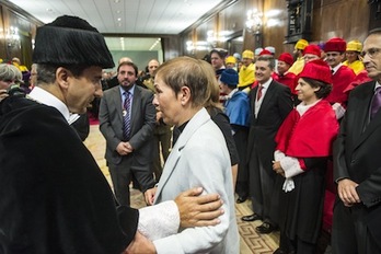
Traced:
POLYGON ((201 187, 195 187, 175 198, 182 228, 216 226, 221 222, 218 219, 224 212, 221 197, 218 194, 199 196, 201 193, 201 187))

